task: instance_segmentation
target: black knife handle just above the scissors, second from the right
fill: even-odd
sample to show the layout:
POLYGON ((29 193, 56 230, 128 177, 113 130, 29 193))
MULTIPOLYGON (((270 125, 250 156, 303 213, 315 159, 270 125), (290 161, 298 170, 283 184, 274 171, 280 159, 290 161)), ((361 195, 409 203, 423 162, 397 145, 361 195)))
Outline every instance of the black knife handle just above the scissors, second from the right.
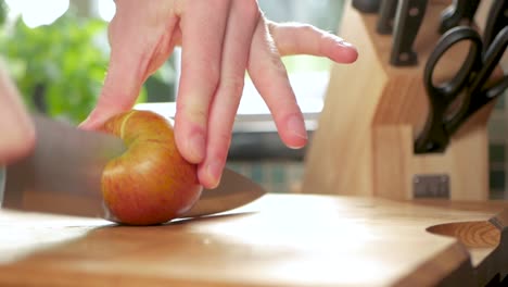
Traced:
POLYGON ((459 25, 471 26, 479 4, 480 0, 454 0, 441 14, 440 34, 459 25))

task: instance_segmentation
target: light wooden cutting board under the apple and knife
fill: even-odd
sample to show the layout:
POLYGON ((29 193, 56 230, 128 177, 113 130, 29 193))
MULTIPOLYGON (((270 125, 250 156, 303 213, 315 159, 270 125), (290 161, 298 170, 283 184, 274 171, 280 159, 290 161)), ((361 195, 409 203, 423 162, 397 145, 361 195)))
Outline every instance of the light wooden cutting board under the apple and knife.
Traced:
POLYGON ((506 207, 268 195, 150 227, 0 211, 0 286, 483 285, 508 273, 506 207))

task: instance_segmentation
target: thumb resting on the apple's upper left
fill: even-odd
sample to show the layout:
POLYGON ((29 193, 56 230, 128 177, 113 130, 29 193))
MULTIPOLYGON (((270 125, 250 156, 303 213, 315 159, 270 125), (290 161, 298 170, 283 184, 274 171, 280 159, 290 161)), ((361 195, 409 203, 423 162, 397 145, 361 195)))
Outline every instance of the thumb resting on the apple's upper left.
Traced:
POLYGON ((99 100, 90 115, 79 127, 98 129, 113 115, 132 109, 145 79, 147 63, 142 57, 134 57, 128 46, 112 49, 110 67, 99 100))

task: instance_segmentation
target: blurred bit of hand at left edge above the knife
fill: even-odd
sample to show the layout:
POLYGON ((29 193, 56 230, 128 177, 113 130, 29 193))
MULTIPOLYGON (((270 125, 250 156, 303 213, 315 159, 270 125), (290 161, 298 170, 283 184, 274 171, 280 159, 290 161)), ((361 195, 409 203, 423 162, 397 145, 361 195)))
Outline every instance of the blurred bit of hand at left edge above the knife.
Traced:
POLYGON ((0 66, 0 167, 28 153, 36 134, 15 85, 0 66))

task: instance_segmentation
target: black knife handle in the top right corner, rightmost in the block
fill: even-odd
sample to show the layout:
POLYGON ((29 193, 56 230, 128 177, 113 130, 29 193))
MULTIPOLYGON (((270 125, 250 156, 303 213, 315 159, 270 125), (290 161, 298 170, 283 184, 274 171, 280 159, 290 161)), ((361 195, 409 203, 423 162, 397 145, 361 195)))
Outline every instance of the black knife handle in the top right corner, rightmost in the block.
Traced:
POLYGON ((483 33, 483 47, 486 49, 496 35, 508 25, 508 1, 507 0, 495 0, 485 24, 485 30, 483 33))

